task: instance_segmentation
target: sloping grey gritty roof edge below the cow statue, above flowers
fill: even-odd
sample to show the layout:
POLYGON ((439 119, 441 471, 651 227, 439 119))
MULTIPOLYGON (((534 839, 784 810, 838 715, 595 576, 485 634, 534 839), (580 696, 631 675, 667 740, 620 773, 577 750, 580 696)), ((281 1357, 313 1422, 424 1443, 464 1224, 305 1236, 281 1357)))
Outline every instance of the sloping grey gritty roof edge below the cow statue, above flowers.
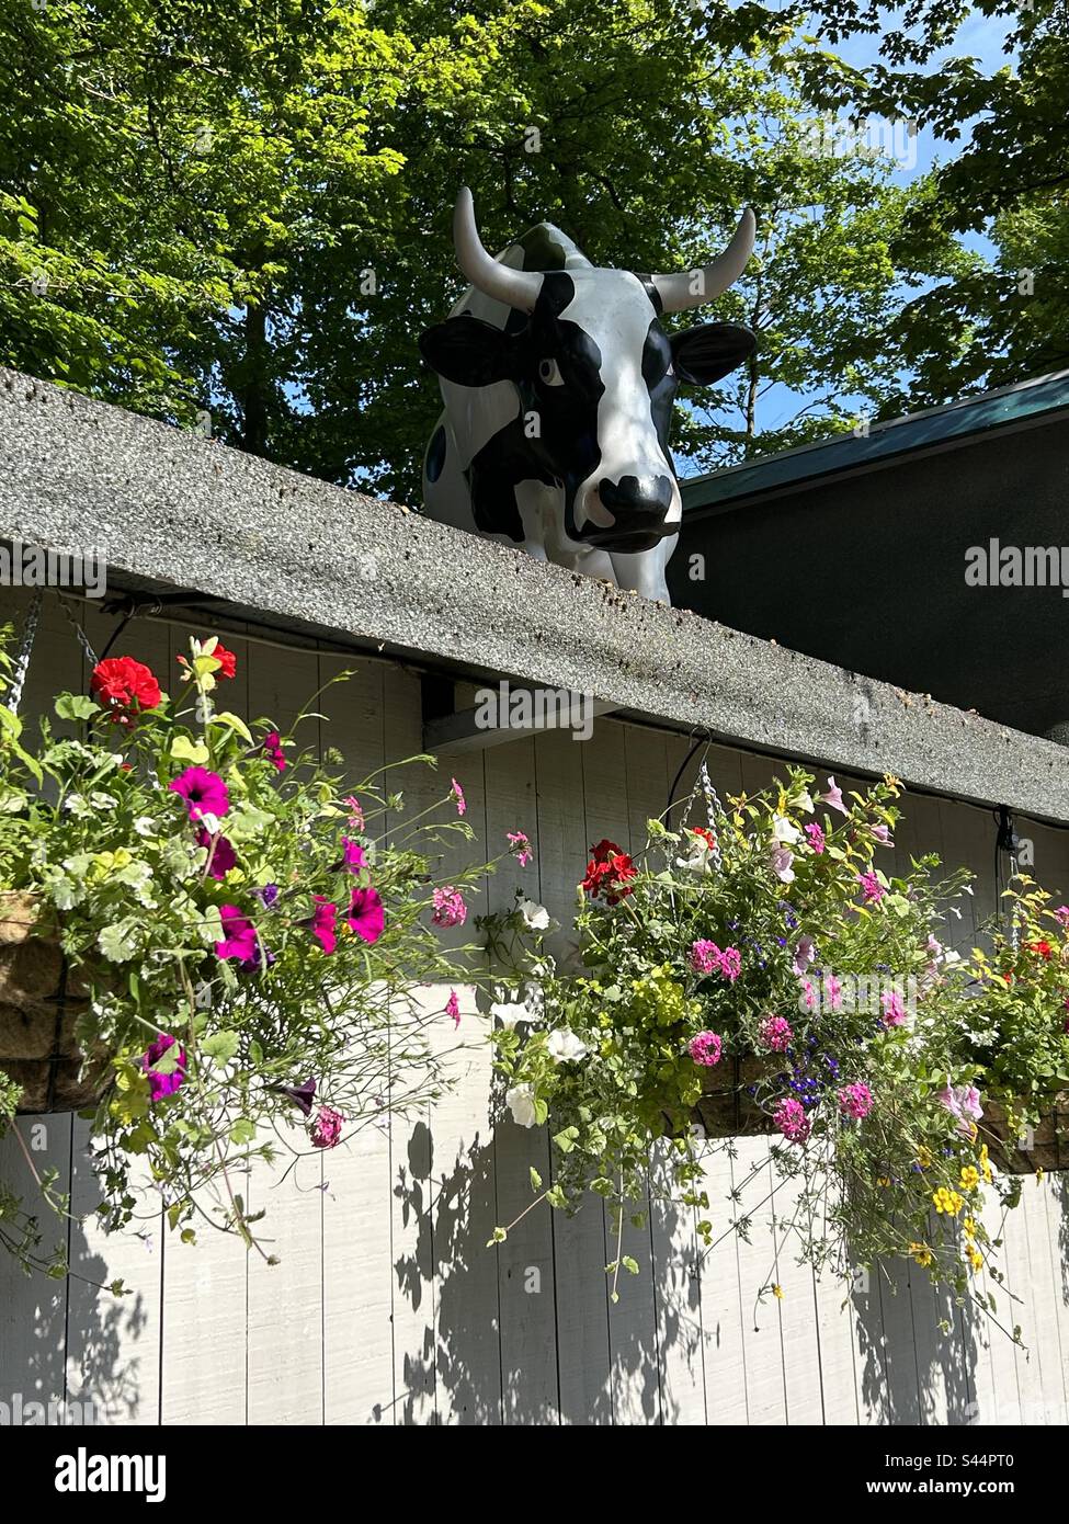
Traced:
POLYGON ((0 369, 0 538, 271 623, 1069 823, 1064 748, 0 369))

